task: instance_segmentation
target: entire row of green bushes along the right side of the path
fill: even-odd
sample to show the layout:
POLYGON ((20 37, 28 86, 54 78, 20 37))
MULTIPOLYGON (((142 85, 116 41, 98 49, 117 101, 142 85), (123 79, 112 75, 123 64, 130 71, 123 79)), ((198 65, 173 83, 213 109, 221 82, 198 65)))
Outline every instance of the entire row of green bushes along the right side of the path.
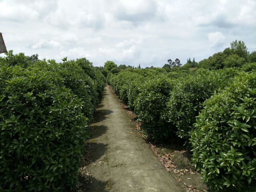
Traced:
MULTIPOLYGON (((253 66, 250 64, 245 68, 250 71, 253 66)), ((166 74, 154 68, 141 69, 108 74, 108 83, 120 99, 138 114, 138 120, 142 122, 141 129, 151 140, 173 142, 182 138, 187 144, 190 142, 188 146, 193 149, 193 162, 212 191, 236 191, 241 188, 253 191, 256 178, 256 158, 253 152, 256 141, 253 124, 256 108, 253 105, 256 97, 253 94, 256 87, 252 77, 255 73, 240 70, 198 69, 192 73, 181 71, 166 74), (239 79, 239 76, 243 78, 239 79), (233 83, 230 85, 230 82, 233 83), (233 109, 236 114, 229 109, 234 107, 231 103, 226 106, 211 101, 215 100, 211 98, 213 94, 227 95, 232 92, 234 95, 223 99, 223 102, 236 104, 233 109), (209 109, 204 101, 209 103, 209 109), (250 110, 241 108, 242 105, 250 106, 250 110), (206 110, 209 113, 207 116, 204 112, 206 110), (214 118, 218 119, 218 126, 212 123, 216 121, 214 118), (246 123, 250 121, 251 124, 246 123), (233 127, 239 129, 235 135, 233 127), (230 150, 235 152, 230 154, 230 150), (225 158, 220 161, 221 156, 225 158), (236 161, 236 158, 240 160, 236 161)))

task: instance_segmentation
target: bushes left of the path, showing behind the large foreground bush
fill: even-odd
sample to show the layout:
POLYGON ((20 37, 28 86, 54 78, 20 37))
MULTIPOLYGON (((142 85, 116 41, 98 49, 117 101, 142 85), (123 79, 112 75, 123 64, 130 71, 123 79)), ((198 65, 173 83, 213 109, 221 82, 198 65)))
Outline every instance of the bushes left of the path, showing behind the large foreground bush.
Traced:
POLYGON ((47 62, 40 60, 28 70, 37 68, 38 70, 57 72, 64 79, 65 87, 71 89, 83 101, 83 113, 90 122, 93 119, 94 109, 102 98, 105 77, 98 69, 92 67, 90 62, 86 62, 86 59, 81 59, 79 62, 70 60, 63 63, 56 63, 55 60, 48 60, 47 62), (82 64, 83 68, 81 67, 82 64))

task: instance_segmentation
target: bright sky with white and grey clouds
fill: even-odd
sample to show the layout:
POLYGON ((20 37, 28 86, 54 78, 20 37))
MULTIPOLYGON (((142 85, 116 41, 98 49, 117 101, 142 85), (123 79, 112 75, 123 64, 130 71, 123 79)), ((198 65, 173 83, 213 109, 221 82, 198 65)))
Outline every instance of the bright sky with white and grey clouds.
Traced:
POLYGON ((255 51, 255 10, 256 0, 0 0, 0 32, 7 50, 40 59, 162 67, 236 39, 255 51))

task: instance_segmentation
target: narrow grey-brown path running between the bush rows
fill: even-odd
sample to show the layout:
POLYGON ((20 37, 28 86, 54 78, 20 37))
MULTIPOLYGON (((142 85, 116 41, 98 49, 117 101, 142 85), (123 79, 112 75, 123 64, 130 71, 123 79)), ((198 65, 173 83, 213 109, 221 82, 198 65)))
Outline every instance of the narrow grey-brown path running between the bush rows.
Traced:
POLYGON ((86 191, 103 192, 184 192, 172 174, 167 172, 151 148, 138 135, 135 125, 120 106, 110 86, 97 109, 92 163, 92 183, 86 191))

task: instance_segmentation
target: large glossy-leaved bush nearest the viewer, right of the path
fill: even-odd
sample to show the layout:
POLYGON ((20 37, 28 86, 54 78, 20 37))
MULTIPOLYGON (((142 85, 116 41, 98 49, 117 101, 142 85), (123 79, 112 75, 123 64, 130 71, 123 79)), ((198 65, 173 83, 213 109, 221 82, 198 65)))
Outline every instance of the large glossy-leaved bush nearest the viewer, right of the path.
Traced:
POLYGON ((211 191, 256 189, 256 72, 242 72, 204 102, 190 142, 211 191))

